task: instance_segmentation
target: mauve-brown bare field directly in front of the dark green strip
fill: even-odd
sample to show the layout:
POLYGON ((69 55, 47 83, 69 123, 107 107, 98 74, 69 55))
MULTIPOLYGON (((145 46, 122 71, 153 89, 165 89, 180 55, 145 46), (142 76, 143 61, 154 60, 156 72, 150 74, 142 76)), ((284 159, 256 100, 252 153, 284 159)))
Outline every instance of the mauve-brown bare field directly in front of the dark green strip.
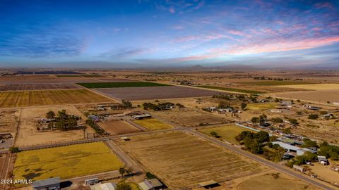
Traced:
MULTIPOLYGON (((114 99, 128 101, 152 100, 152 99, 179 99, 188 97, 213 96, 220 94, 219 91, 196 89, 189 87, 167 86, 167 87, 129 87, 117 89, 97 89, 102 94, 114 99)), ((222 93, 227 94, 227 93, 222 93)))

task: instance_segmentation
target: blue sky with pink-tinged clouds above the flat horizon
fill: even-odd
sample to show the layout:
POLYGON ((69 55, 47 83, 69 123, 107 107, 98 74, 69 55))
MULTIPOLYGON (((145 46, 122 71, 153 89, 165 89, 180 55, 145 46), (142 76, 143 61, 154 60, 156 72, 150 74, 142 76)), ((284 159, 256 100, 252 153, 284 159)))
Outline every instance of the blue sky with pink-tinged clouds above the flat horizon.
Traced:
POLYGON ((0 67, 339 68, 339 1, 0 0, 0 67))

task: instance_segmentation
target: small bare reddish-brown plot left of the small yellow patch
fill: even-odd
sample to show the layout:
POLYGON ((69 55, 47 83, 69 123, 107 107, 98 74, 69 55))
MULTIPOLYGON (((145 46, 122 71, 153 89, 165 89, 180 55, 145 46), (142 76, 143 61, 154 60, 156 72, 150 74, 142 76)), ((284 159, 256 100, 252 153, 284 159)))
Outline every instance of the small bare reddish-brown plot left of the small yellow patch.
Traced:
POLYGON ((141 132, 140 129, 124 120, 110 120, 106 122, 98 122, 97 124, 111 135, 141 132))

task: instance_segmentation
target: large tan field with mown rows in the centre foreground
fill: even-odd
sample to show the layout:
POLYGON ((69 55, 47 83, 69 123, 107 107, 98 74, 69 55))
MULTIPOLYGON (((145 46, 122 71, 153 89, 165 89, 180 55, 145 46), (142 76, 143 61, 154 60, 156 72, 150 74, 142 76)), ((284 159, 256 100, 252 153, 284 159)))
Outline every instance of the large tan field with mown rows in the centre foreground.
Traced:
POLYGON ((208 180, 225 182, 254 175, 264 168, 183 132, 141 135, 118 143, 173 189, 194 188, 208 180))

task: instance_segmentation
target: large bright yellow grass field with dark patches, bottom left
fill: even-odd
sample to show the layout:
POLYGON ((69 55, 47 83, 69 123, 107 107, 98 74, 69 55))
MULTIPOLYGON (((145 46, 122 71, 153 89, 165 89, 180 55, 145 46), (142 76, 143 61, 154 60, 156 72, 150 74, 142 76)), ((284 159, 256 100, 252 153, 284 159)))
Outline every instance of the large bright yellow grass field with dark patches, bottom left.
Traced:
POLYGON ((14 179, 69 179, 110 170, 123 163, 102 142, 17 153, 14 179))

